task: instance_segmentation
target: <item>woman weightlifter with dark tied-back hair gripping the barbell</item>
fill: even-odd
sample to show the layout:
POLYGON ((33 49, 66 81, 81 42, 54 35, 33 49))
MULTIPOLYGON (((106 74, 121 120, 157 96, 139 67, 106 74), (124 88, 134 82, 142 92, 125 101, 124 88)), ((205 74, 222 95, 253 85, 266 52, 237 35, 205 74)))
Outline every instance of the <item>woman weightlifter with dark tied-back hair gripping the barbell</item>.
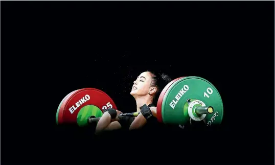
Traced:
POLYGON ((139 129, 146 123, 157 123, 156 105, 153 101, 157 101, 163 88, 171 81, 166 74, 156 74, 152 71, 146 71, 140 74, 133 82, 130 94, 136 101, 136 112, 141 112, 136 117, 123 116, 118 118, 121 111, 116 109, 107 109, 101 116, 97 127, 96 134, 100 134, 106 130, 116 129, 139 129))

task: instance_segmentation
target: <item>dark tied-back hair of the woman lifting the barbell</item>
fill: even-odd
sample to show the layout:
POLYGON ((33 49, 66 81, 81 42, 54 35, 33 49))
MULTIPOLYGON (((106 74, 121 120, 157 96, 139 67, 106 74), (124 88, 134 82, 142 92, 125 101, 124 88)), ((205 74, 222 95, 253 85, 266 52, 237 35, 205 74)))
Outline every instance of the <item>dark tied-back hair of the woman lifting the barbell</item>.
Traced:
POLYGON ((163 88, 170 81, 172 81, 172 79, 164 73, 159 74, 159 73, 155 73, 155 72, 150 71, 150 70, 147 70, 146 72, 149 72, 152 76, 151 86, 155 86, 157 88, 157 91, 155 93, 155 97, 154 97, 154 100, 153 100, 153 102, 155 102, 155 106, 156 106, 156 102, 158 100, 159 95, 161 95, 161 92, 162 92, 163 88))

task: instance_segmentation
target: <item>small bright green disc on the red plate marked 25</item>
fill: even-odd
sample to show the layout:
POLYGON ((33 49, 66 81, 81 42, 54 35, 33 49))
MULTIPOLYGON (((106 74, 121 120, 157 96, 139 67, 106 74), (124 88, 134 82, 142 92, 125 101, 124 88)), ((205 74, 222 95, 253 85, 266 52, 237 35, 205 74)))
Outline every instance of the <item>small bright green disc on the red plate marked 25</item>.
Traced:
POLYGON ((100 108, 94 105, 86 105, 82 107, 77 114, 77 124, 80 127, 88 125, 88 118, 90 116, 101 117, 103 115, 100 108))

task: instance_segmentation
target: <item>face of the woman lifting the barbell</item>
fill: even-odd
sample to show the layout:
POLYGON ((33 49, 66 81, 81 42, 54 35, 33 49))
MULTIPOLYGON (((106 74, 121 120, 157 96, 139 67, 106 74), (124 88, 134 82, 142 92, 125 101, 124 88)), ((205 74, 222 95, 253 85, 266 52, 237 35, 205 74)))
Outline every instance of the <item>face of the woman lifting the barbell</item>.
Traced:
POLYGON ((149 72, 144 72, 140 74, 134 81, 132 90, 130 94, 134 97, 136 96, 146 96, 150 91, 151 84, 151 74, 149 72))

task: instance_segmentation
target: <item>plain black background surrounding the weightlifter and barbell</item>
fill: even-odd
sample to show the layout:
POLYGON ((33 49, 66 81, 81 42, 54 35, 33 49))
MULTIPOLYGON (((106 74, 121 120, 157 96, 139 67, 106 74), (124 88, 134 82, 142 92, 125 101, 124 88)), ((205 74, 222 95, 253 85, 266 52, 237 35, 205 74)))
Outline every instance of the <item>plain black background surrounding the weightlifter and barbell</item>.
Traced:
POLYGON ((274 2, 1 2, 2 163, 273 163, 274 2), (96 137, 55 124, 73 90, 135 110, 148 69, 212 82, 221 128, 96 137))

